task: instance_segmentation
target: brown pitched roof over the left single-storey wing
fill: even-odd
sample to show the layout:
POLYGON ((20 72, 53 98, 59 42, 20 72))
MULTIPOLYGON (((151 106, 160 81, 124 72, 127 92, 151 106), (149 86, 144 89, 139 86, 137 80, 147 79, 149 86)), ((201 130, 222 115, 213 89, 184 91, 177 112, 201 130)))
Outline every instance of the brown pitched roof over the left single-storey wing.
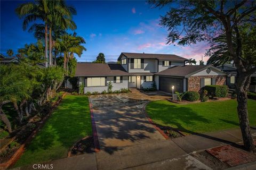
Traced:
POLYGON ((76 77, 128 75, 121 64, 77 63, 76 77))

